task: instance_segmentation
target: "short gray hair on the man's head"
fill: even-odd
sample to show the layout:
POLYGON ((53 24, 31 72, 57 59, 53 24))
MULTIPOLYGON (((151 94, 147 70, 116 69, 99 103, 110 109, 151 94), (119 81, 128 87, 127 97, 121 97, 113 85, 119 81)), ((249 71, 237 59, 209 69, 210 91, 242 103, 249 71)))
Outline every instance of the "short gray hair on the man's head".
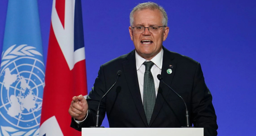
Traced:
POLYGON ((133 25, 133 14, 134 12, 136 12, 137 10, 143 10, 143 9, 150 9, 150 10, 154 10, 154 9, 158 9, 161 14, 162 14, 162 23, 164 26, 167 26, 167 22, 168 22, 168 17, 167 14, 164 10, 164 8, 162 6, 159 6, 158 4, 154 3, 154 2, 145 2, 145 3, 140 3, 138 4, 136 7, 133 8, 133 10, 130 12, 130 26, 133 25))

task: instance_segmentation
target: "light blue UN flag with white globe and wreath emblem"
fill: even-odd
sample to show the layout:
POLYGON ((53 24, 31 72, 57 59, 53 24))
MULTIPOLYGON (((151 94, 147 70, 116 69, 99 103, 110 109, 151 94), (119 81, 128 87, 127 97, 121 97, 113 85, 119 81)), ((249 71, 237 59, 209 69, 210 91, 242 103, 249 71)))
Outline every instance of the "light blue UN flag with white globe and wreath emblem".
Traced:
POLYGON ((38 136, 45 66, 37 0, 9 0, 0 67, 0 136, 38 136))

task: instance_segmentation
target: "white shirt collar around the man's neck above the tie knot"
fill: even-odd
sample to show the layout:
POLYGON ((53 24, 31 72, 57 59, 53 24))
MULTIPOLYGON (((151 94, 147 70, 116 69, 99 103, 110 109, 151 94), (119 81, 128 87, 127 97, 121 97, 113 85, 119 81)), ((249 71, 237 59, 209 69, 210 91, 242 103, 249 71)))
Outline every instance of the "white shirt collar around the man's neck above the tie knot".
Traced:
MULTIPOLYGON (((158 68, 162 69, 162 64, 163 64, 163 55, 164 55, 164 50, 161 49, 161 51, 154 56, 150 61, 152 61, 158 68)), ((142 64, 147 61, 146 59, 142 58, 136 51, 135 51, 135 59, 136 59, 136 68, 137 70, 140 69, 142 64)))

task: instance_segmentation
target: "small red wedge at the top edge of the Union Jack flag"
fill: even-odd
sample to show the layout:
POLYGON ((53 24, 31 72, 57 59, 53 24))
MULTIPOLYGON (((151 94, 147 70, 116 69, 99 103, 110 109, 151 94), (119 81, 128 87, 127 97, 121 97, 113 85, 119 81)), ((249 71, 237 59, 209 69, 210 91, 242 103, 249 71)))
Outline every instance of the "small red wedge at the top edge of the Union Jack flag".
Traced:
POLYGON ((56 0, 55 8, 62 26, 65 28, 65 0, 56 0))

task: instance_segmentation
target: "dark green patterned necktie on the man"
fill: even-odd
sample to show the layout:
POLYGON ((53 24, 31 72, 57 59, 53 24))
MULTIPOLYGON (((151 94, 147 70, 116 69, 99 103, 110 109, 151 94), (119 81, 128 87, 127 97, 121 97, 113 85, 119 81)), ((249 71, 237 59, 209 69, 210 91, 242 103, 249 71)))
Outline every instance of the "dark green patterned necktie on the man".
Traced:
POLYGON ((156 103, 154 78, 150 71, 154 63, 152 61, 145 61, 143 64, 146 67, 143 84, 143 106, 147 117, 147 124, 149 124, 156 103))

